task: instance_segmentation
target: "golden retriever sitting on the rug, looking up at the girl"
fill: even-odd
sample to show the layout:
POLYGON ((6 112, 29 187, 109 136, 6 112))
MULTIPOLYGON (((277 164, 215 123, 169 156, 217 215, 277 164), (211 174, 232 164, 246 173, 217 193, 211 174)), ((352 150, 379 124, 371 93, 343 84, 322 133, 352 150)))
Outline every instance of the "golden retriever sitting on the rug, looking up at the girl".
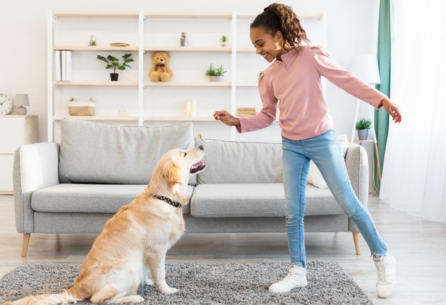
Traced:
POLYGON ((158 161, 145 191, 105 223, 95 239, 74 286, 62 293, 25 297, 12 304, 66 304, 89 298, 92 303, 142 302, 139 285, 154 284, 161 293, 175 293, 165 282, 166 251, 184 232, 181 206, 187 204, 189 178, 205 169, 202 145, 172 149, 158 161), (154 196, 160 196, 158 199, 154 196))

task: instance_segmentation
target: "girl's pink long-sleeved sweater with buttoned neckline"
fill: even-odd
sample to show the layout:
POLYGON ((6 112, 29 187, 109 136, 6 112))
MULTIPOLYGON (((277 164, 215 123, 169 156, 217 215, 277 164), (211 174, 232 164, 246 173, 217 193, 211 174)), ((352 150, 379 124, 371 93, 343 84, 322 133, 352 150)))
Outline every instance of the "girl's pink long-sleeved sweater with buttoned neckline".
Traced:
POLYGON ((279 100, 281 135, 292 140, 318 136, 333 127, 322 95, 321 75, 339 88, 376 109, 383 107, 379 90, 341 68, 320 45, 304 45, 299 54, 293 48, 263 71, 259 93, 263 108, 252 116, 238 117, 237 132, 268 127, 276 119, 279 100))

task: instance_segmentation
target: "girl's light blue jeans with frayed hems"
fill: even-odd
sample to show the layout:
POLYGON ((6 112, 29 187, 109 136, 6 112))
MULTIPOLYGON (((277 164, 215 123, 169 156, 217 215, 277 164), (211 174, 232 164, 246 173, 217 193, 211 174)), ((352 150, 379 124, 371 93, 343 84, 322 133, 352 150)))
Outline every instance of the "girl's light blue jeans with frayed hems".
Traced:
POLYGON ((353 191, 335 129, 330 128, 319 136, 305 140, 291 140, 282 136, 285 224, 291 265, 306 268, 304 212, 310 159, 318 167, 341 209, 358 227, 370 253, 387 254, 388 247, 376 230, 372 217, 353 191))

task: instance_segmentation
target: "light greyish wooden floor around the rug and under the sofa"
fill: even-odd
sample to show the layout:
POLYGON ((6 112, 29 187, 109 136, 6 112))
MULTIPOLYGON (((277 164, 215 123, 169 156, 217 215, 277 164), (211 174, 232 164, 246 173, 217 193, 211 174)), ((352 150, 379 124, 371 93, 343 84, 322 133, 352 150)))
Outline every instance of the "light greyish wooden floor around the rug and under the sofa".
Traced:
MULTIPOLYGON (((0 209, 0 277, 24 264, 82 263, 97 236, 31 234, 28 255, 21 257, 22 235, 16 231, 12 195, 0 195, 0 209)), ((375 304, 446 304, 446 225, 394 210, 376 195, 369 196, 368 210, 396 258, 392 297, 376 296, 376 269, 362 236, 362 254, 357 256, 351 233, 308 232, 307 261, 338 262, 375 304)), ((256 260, 288 261, 286 234, 185 234, 166 257, 166 262, 256 260)))

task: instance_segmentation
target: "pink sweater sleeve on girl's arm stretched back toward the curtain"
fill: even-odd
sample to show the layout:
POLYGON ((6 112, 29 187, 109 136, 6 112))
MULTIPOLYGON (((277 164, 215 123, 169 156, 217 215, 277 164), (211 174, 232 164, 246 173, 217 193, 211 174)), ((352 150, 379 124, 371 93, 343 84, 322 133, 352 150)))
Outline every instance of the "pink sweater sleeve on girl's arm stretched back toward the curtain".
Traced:
POLYGON ((334 83, 339 88, 347 91, 357 99, 369 103, 376 109, 383 107, 381 100, 388 97, 375 89, 354 73, 344 70, 328 54, 328 51, 320 45, 310 45, 310 58, 313 66, 319 74, 334 83))

